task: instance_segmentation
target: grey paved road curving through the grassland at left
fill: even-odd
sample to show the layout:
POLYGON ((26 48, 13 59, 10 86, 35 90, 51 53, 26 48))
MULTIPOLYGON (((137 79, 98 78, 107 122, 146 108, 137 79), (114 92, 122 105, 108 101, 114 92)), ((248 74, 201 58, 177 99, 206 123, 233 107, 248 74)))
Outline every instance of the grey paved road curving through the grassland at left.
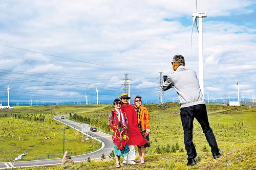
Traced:
MULTIPOLYGON (((60 116, 55 116, 55 120, 66 124, 74 129, 77 129, 78 131, 81 131, 82 125, 76 122, 73 122, 68 119, 60 119, 60 116)), ((89 134, 95 138, 96 140, 102 141, 102 147, 101 149, 88 153, 88 154, 83 154, 83 155, 78 155, 78 156, 72 156, 71 158, 73 161, 76 162, 82 162, 88 157, 90 157, 91 160, 99 160, 101 159, 102 153, 106 157, 108 157, 113 149, 113 141, 110 135, 102 133, 102 132, 90 132, 89 134)), ((29 153, 28 153, 29 154, 29 153)), ((46 160, 33 160, 33 161, 17 161, 15 162, 13 166, 13 162, 0 162, 0 169, 5 169, 5 168, 12 168, 12 167, 30 167, 30 166, 47 166, 47 165, 56 165, 61 163, 62 158, 58 159, 46 159, 46 160)))

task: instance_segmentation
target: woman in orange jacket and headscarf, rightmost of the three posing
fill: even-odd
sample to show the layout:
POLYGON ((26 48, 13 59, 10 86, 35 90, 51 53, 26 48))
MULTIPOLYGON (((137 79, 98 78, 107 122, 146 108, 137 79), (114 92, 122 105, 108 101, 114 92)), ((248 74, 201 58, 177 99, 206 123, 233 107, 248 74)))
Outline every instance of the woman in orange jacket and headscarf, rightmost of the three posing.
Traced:
POLYGON ((150 114, 145 106, 142 106, 142 97, 137 95, 134 99, 134 108, 137 112, 138 126, 140 128, 141 135, 145 138, 146 144, 139 147, 138 152, 140 159, 136 160, 137 163, 145 163, 144 155, 146 153, 146 147, 150 147, 150 114))

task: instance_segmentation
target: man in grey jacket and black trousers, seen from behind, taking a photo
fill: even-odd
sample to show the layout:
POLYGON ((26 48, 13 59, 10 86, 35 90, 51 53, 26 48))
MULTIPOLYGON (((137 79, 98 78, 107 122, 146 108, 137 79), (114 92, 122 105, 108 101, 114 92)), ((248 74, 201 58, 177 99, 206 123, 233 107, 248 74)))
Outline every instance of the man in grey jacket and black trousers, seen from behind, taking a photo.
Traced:
POLYGON ((178 93, 180 102, 180 117, 184 131, 184 144, 187 151, 187 165, 196 164, 196 148, 193 143, 193 121, 196 118, 202 127, 206 140, 211 147, 212 156, 216 159, 221 156, 214 133, 209 126, 204 96, 201 92, 196 72, 185 68, 185 60, 182 55, 173 57, 173 70, 163 83, 162 90, 172 87, 178 93))

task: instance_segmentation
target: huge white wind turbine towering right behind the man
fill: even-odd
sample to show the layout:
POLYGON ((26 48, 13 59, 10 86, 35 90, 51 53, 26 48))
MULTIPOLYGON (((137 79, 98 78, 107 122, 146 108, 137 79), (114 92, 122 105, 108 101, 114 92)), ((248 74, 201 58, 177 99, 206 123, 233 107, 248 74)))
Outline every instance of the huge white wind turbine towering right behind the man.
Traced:
POLYGON ((203 72, 203 18, 207 17, 207 11, 205 12, 197 12, 197 0, 195 0, 195 8, 194 12, 192 13, 193 22, 192 22, 192 30, 191 30, 191 47, 192 47, 192 35, 193 35, 193 28, 194 23, 196 21, 197 25, 197 18, 199 20, 199 27, 198 30, 198 81, 201 88, 201 91, 204 95, 204 72, 203 72))

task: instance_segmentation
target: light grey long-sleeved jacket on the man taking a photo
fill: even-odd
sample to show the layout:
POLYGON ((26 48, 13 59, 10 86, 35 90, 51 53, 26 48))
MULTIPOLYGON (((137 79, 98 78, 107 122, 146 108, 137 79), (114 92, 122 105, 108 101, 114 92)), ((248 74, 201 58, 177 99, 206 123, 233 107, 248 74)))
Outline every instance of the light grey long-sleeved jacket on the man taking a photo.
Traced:
POLYGON ((197 74, 194 70, 180 65, 176 71, 167 77, 163 83, 162 90, 165 91, 172 87, 177 91, 181 108, 205 104, 197 74))

